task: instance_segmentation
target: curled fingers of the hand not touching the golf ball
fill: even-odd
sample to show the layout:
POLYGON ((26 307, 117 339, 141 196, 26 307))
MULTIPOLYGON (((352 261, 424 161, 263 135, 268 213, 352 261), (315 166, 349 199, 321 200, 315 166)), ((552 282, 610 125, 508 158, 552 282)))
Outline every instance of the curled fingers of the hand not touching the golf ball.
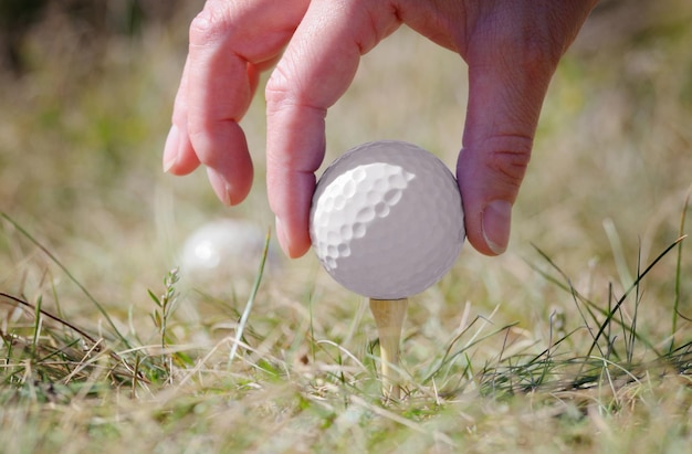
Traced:
POLYGON ((174 139, 166 158, 171 171, 201 162, 227 204, 242 201, 253 178, 239 122, 250 106, 259 71, 280 53, 307 9, 307 0, 209 0, 190 25, 190 47, 178 92, 174 139), (177 142, 177 144, 176 144, 177 142), (195 157, 192 158, 192 155, 195 157))

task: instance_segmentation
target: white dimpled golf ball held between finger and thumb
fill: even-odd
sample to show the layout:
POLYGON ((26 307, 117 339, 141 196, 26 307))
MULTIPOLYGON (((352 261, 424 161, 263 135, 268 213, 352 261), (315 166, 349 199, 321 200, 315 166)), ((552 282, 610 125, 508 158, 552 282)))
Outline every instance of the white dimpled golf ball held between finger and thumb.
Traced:
POLYGON ((465 233, 454 176, 434 155, 396 140, 360 145, 327 167, 310 221, 327 273, 375 299, 406 298, 436 284, 465 233))

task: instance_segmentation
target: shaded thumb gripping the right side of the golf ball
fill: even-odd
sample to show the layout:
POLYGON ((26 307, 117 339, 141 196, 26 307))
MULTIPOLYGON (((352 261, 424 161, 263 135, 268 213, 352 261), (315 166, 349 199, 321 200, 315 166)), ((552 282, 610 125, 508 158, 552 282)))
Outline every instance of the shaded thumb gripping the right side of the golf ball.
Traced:
POLYGON ((553 65, 469 65, 469 106, 457 163, 469 242, 486 255, 510 241, 512 205, 531 158, 553 65))

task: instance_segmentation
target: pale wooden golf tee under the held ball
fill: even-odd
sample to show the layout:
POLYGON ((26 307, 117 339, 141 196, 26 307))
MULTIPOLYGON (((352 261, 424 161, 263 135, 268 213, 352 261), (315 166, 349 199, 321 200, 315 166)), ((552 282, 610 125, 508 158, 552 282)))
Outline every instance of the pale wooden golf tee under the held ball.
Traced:
POLYGON ((373 299, 370 310, 379 332, 379 357, 385 399, 399 400, 401 388, 399 380, 399 344, 401 327, 406 318, 408 298, 373 299))

